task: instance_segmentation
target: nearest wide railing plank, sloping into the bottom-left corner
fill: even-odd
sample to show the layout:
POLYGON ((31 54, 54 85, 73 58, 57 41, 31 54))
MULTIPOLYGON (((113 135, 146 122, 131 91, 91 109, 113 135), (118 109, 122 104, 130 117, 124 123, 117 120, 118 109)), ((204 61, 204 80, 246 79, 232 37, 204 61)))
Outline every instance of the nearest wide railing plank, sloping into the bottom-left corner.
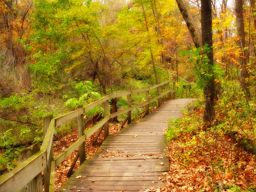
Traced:
POLYGON ((45 150, 40 150, 0 178, 1 192, 20 191, 21 188, 36 177, 45 167, 46 152, 45 150))

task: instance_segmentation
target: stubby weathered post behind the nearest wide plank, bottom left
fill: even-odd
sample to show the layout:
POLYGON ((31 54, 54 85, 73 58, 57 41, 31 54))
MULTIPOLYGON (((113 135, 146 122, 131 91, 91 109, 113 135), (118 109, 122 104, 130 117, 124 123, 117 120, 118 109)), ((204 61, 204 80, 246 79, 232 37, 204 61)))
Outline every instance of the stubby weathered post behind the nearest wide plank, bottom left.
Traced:
MULTIPOLYGON (((23 149, 19 153, 19 163, 26 161, 29 157, 40 150, 40 144, 36 143, 23 149)), ((22 192, 43 192, 42 173, 40 172, 34 179, 32 179, 25 187, 21 189, 22 192)))

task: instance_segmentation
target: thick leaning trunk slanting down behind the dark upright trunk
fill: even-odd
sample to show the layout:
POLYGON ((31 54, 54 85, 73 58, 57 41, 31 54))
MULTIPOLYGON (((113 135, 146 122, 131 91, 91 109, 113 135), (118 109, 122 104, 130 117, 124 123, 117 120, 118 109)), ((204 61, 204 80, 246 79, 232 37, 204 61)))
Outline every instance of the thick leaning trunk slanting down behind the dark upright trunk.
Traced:
POLYGON ((188 30, 192 36, 196 48, 203 47, 201 33, 196 25, 195 20, 193 19, 191 12, 189 11, 188 4, 185 2, 185 0, 176 0, 176 2, 188 26, 188 30))

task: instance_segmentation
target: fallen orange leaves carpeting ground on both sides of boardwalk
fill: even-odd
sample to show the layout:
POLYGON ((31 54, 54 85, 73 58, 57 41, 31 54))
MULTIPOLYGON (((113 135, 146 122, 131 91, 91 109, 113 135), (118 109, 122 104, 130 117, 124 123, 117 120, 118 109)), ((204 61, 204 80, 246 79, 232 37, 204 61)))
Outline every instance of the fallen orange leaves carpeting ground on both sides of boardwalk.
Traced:
MULTIPOLYGON (((109 133, 115 134, 120 130, 120 126, 121 123, 112 124, 109 133)), ((92 157, 98 149, 98 146, 92 146, 94 137, 95 135, 86 140, 86 158, 92 157)), ((62 138, 62 142, 55 141, 54 156, 76 140, 77 131, 73 131, 62 138), (63 143, 65 147, 62 147, 63 143)), ((103 133, 98 141, 103 142, 103 133)), ((77 151, 56 168, 55 191, 68 179, 67 173, 77 151)), ((159 179, 164 179, 167 184, 162 188, 150 188, 141 192, 256 191, 255 158, 237 146, 228 134, 210 130, 183 132, 170 141, 166 154, 170 160, 170 171, 159 179)), ((73 170, 78 166, 79 159, 73 170)))

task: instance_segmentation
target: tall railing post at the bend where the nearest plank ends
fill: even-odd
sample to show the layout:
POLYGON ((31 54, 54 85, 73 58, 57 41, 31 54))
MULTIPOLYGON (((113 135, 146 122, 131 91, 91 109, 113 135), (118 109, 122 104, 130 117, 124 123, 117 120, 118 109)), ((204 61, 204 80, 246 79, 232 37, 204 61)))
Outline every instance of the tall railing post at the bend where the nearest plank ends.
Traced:
MULTIPOLYGON (((46 132, 47 132, 48 127, 51 123, 51 120, 52 120, 52 115, 46 116, 43 119, 43 138, 46 135, 46 132)), ((50 156, 49 156, 49 159, 47 161, 46 168, 44 169, 44 191, 45 192, 49 192, 52 159, 53 159, 53 145, 51 147, 50 156)))

